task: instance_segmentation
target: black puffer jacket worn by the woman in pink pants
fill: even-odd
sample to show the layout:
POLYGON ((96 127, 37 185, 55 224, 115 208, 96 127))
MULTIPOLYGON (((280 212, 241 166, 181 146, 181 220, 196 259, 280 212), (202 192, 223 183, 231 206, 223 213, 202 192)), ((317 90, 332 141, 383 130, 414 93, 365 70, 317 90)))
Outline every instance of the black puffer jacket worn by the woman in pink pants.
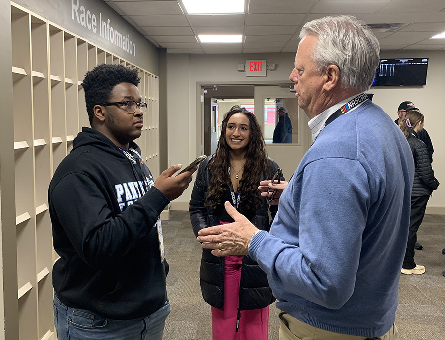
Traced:
MULTIPOLYGON (((220 224, 220 217, 217 216, 215 209, 204 206, 205 194, 210 183, 210 171, 207 165, 211 158, 211 156, 207 157, 199 166, 190 200, 190 220, 196 236, 198 236, 199 230, 220 224)), ((270 158, 269 161, 270 173, 272 174, 278 169, 278 164, 270 158)), ((263 176, 261 180, 263 180, 263 176)), ((270 206, 272 219, 277 209, 276 205, 270 206)), ((268 210, 269 205, 266 199, 264 199, 264 204, 257 209, 251 220, 260 230, 270 230, 268 210)), ((215 308, 223 310, 224 257, 213 256, 210 249, 203 249, 199 277, 204 301, 215 308)), ((250 257, 244 256, 241 267, 239 310, 264 308, 274 301, 275 298, 269 287, 266 273, 260 269, 258 263, 250 257)))

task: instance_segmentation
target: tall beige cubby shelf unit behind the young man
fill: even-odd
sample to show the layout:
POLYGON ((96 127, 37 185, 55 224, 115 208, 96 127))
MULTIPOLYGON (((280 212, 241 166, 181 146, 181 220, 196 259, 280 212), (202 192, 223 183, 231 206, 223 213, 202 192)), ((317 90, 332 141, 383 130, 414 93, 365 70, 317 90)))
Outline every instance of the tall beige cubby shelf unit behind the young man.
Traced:
POLYGON ((76 135, 89 126, 82 80, 102 63, 138 70, 148 129, 135 142, 158 176, 158 76, 15 3, 11 28, 19 340, 54 340, 52 266, 59 255, 47 194, 76 135))

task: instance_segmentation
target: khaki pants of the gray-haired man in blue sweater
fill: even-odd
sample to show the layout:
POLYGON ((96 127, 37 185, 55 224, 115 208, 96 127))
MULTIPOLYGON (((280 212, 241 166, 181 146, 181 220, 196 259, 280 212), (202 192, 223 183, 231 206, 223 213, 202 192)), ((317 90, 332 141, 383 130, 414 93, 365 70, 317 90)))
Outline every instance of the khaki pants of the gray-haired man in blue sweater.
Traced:
MULTIPOLYGON (((308 325, 297 320, 288 313, 281 311, 280 319, 280 340, 365 340, 366 337, 356 335, 340 334, 323 330, 308 325)), ((393 325, 384 335, 380 336, 382 340, 396 340, 397 328, 393 325)))

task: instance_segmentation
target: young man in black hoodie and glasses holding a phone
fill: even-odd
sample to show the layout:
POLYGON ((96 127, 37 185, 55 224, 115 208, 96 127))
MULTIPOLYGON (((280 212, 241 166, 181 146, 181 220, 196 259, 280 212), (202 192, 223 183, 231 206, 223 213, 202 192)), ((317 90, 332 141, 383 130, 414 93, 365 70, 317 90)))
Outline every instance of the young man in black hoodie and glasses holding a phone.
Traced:
POLYGON ((161 220, 192 180, 174 165, 153 180, 133 142, 146 103, 138 73, 99 65, 82 86, 89 122, 49 186, 59 340, 160 340, 170 312, 161 220))

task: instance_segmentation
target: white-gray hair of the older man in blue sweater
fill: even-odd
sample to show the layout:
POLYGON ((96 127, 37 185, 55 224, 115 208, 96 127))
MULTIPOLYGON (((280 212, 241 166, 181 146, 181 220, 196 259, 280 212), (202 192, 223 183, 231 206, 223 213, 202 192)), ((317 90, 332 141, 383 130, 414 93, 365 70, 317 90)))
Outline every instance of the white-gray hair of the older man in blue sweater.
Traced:
POLYGON ((312 59, 318 72, 329 65, 340 69, 344 88, 366 91, 380 62, 380 46, 371 29, 354 16, 327 16, 307 22, 300 39, 316 36, 312 59))

